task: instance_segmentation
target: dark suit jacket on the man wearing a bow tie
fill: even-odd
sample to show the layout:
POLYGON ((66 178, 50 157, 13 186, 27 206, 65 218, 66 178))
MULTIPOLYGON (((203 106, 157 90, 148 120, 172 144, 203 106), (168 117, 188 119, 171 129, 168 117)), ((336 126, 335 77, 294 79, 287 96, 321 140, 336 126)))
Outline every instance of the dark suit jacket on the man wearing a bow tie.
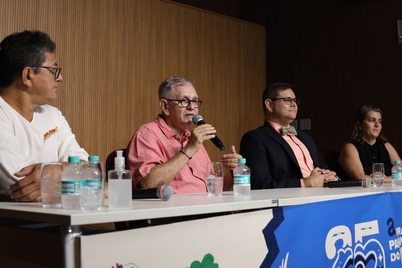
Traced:
MULTIPOLYGON (((309 150, 314 167, 327 169, 310 135, 297 130, 297 138, 309 150)), ((267 121, 263 127, 243 135, 240 154, 246 158, 246 165, 251 169, 251 189, 301 186, 300 178, 303 175, 296 156, 289 144, 267 121)))

